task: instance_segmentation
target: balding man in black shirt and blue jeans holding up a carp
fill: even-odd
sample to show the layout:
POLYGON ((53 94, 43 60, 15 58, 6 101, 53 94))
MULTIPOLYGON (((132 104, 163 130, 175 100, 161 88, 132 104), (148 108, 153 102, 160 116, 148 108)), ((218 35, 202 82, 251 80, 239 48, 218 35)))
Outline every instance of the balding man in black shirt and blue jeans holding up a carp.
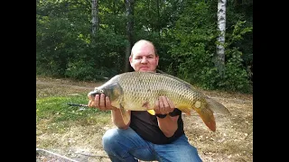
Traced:
MULTIPOLYGON (((135 43, 129 57, 135 71, 156 72, 159 56, 154 44, 148 40, 135 43)), ((104 94, 96 95, 95 107, 111 110, 117 129, 107 130, 103 136, 103 147, 113 161, 172 161, 200 162, 196 148, 190 145, 183 131, 182 112, 175 109, 172 101, 160 96, 155 101, 156 116, 146 111, 128 111, 131 118, 125 124, 119 109, 112 107, 104 94), (170 113, 170 114, 169 114, 170 113)))

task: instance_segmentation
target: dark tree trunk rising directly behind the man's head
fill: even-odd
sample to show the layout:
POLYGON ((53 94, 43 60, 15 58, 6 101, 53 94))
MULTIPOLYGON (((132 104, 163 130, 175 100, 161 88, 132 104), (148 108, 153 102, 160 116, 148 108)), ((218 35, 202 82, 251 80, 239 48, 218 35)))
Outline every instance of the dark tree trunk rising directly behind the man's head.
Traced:
POLYGON ((125 72, 131 71, 132 68, 129 65, 130 50, 134 45, 133 33, 134 33, 134 0, 125 0, 126 3, 126 39, 128 43, 126 45, 126 60, 125 60, 125 72))

